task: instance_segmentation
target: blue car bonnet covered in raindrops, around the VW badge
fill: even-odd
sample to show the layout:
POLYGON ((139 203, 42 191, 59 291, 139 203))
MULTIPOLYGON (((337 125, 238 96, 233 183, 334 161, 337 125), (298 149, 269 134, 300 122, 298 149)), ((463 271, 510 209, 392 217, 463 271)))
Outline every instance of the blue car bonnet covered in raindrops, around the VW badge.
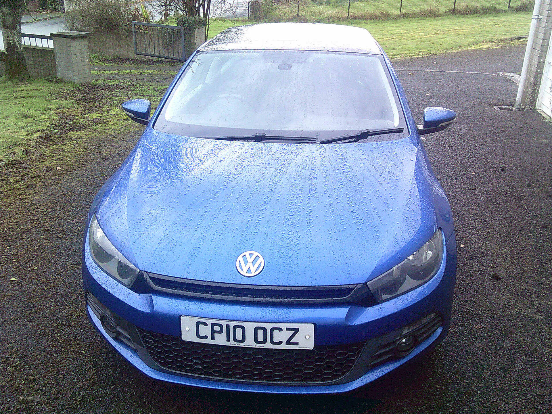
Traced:
POLYGON ((362 283, 435 230, 423 151, 410 139, 264 144, 146 131, 97 211, 141 270, 259 285, 362 283), (243 277, 246 251, 264 269, 243 277))

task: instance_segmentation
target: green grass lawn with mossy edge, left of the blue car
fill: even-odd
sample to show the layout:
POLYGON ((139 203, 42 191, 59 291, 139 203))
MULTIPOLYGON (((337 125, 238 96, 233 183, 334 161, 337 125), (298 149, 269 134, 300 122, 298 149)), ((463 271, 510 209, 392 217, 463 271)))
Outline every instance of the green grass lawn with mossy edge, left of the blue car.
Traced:
POLYGON ((116 72, 123 80, 101 79, 76 86, 43 79, 19 83, 0 78, 0 102, 7 103, 0 113, 0 177, 2 169, 29 155, 35 161, 38 157, 46 163, 70 163, 76 153, 84 151, 81 143, 96 135, 140 130, 141 126, 123 113, 120 104, 132 98, 146 98, 155 108, 167 85, 128 79, 161 71, 104 72, 116 72), (34 151, 39 146, 40 151, 34 151))

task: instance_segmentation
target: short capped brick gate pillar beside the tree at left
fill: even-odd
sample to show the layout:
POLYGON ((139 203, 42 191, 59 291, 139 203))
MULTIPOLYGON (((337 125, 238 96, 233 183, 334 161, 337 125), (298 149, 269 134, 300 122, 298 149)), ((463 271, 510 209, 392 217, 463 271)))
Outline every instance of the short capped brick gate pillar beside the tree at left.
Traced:
POLYGON ((60 31, 50 35, 54 39, 57 77, 77 84, 91 81, 89 35, 84 31, 60 31))

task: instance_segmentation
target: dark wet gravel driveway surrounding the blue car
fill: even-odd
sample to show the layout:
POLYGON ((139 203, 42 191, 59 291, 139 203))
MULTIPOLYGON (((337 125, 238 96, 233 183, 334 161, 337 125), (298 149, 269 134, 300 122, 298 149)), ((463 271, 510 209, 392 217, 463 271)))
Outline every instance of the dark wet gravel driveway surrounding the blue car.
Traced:
POLYGON ((424 140, 459 262, 449 336, 420 364, 354 394, 302 397, 164 384, 126 363, 88 322, 79 274, 88 206, 137 140, 121 132, 52 161, 25 197, 0 192, 0 412, 550 412, 552 124, 493 109, 512 104, 517 86, 485 74, 519 72, 523 52, 395 62, 418 121, 429 105, 458 112, 424 140))

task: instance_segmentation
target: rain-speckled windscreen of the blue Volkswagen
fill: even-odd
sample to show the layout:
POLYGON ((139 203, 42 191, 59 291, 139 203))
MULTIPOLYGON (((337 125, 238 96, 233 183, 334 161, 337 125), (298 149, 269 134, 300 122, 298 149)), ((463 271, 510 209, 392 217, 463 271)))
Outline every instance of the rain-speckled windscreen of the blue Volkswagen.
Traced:
POLYGON ((401 126, 382 56, 300 50, 197 54, 155 123, 184 136, 320 139, 401 126))

